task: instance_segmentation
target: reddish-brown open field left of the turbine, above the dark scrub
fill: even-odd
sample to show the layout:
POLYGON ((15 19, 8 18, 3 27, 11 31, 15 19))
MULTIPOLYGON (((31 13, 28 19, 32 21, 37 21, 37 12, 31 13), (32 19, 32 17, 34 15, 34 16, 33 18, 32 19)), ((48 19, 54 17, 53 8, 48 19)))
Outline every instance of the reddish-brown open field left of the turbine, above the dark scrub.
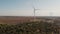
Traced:
POLYGON ((29 20, 32 19, 33 17, 1 16, 0 23, 16 24, 16 23, 28 22, 29 20))

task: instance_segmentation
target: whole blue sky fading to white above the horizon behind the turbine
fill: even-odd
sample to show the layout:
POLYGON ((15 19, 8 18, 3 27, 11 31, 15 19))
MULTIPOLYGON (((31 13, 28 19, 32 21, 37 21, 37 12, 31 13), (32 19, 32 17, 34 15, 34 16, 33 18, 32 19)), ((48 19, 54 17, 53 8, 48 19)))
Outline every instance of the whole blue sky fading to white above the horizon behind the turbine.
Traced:
POLYGON ((0 16, 60 16, 60 0, 0 0, 0 16))

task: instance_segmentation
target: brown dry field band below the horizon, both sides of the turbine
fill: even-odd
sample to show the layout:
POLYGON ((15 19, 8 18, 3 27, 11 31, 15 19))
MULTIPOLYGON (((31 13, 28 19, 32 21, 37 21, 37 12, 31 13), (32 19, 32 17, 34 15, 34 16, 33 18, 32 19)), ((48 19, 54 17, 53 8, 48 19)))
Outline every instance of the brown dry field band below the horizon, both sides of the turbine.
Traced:
MULTIPOLYGON (((2 24, 18 24, 24 22, 33 21, 34 17, 25 16, 0 16, 0 23, 2 24)), ((56 19, 50 19, 48 17, 36 17, 36 21, 46 21, 46 22, 59 22, 59 17, 56 19)))

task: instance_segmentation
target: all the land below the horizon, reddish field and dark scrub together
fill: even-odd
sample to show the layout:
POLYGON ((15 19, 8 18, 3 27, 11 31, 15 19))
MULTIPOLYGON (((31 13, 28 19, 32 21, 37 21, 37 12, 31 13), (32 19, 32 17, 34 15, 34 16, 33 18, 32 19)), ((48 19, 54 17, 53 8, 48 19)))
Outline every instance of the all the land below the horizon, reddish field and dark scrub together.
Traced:
POLYGON ((60 17, 0 17, 1 34, 60 34, 60 17))

